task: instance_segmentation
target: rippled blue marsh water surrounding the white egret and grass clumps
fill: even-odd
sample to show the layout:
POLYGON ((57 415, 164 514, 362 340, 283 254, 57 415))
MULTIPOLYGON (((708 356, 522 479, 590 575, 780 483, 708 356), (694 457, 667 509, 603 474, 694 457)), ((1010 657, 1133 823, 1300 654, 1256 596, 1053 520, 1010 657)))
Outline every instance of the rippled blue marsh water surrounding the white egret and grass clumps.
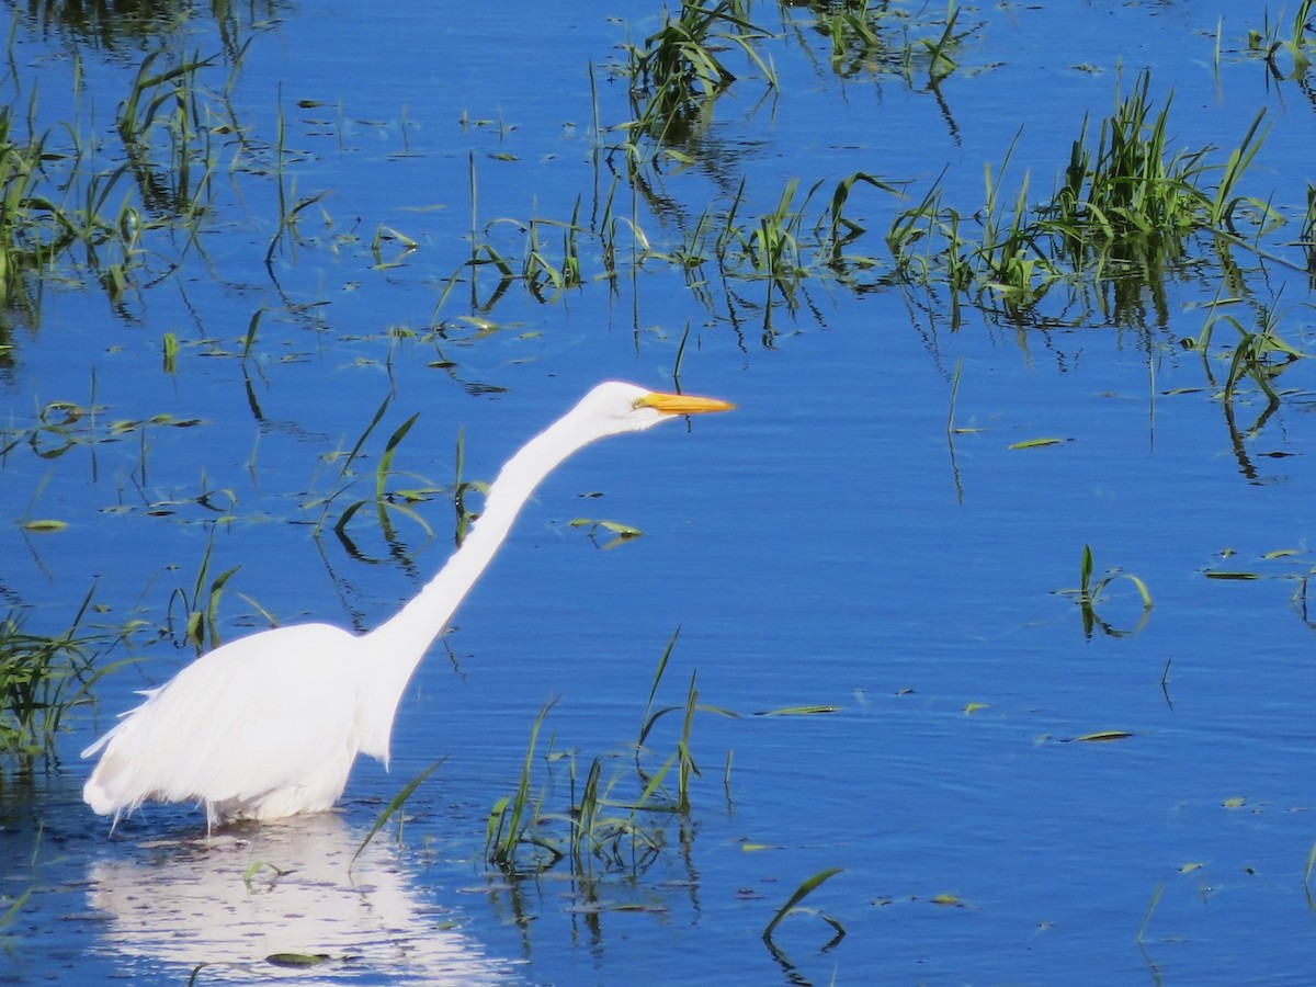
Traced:
MULTIPOLYGON (((1095 126, 1117 83, 1146 67, 1155 99, 1174 92, 1175 146, 1219 146, 1223 162, 1267 109, 1244 191, 1290 218, 1267 253, 1303 263, 1311 80, 1267 78, 1241 50, 1265 5, 965 8, 959 67, 940 92, 917 72, 842 80, 807 11, 750 9, 780 36, 763 42, 779 91, 761 101, 762 80, 726 54, 741 79, 699 153, 646 174, 662 208, 634 207, 658 250, 705 207, 726 208, 741 178, 745 216, 775 207, 792 178, 797 203, 822 180, 816 216, 854 171, 909 182, 916 199, 948 167, 946 195, 967 215, 984 163, 995 174, 1016 134, 1004 187, 1028 172, 1042 199, 1083 116, 1095 126)), ((1217 326, 1205 361, 1179 343, 1220 296, 1245 326, 1275 308, 1282 337, 1309 351, 1304 272, 1236 246, 1227 282, 1200 240, 1159 311, 1144 297, 1119 324, 1071 309, 1062 326, 1023 329, 967 304, 953 328, 944 300, 929 311, 917 291, 851 292, 815 270, 799 309, 778 303, 767 332, 762 282, 709 266, 691 290, 650 259, 612 284, 587 243, 584 286, 550 303, 520 283, 495 297, 484 268, 483 307, 467 284, 440 304, 470 254, 472 162, 479 225, 511 257, 532 217, 566 221, 578 197, 582 217, 603 213, 613 174, 596 149, 617 137, 594 133, 586 66, 603 124, 621 122, 609 66, 658 28, 658 9, 272 13, 241 25, 253 41, 230 100, 250 150, 225 145, 216 215, 179 270, 142 279, 117 312, 70 274, 43 295, 39 325, 11 338, 5 428, 67 400, 95 405, 79 436, 100 441, 58 459, 20 443, 0 463, 5 517, 68 522, 45 536, 0 528, 5 597, 30 608, 29 630, 55 633, 95 584, 93 624, 145 625, 104 658, 139 661, 97 683, 95 711, 70 716, 62 761, 0 788, 0 891, 33 888, 0 928, 0 976, 178 982, 205 962, 199 982, 1308 979, 1316 679, 1299 580, 1313 571, 1316 382, 1304 359, 1278 378, 1273 412, 1250 383, 1227 404, 1236 333, 1217 326), (290 197, 325 197, 267 270, 276 99, 290 197), (522 225, 494 222, 504 217, 522 225), (417 249, 375 270, 379 226, 417 249), (166 333, 182 343, 172 372, 166 333), (257 605, 283 622, 374 626, 451 546, 442 488, 459 433, 465 478, 491 479, 592 383, 670 386, 678 351, 686 390, 738 409, 591 447, 545 483, 457 615, 450 654, 437 646, 417 672, 392 771, 358 765, 340 813, 205 842, 195 812, 147 807, 111 838, 82 805, 76 751, 133 690, 192 655, 171 594, 191 594, 212 540, 207 584, 241 566, 222 636, 265 626, 257 605), (957 366, 961 430, 948 437, 957 366), (317 503, 342 484, 330 454, 390 396, 334 511, 368 496, 388 434, 420 412, 395 459, 413 475, 391 486, 434 491, 416 508, 433 537, 395 516, 390 544, 367 511, 349 529, 353 554, 332 533, 312 537, 317 503), (199 424, 113 429, 157 415, 199 424), (1011 449, 1044 437, 1063 442, 1011 449), (205 491, 229 515, 218 525, 196 503, 205 491), (578 517, 644 536, 604 550, 570 526, 578 517), (1061 592, 1078 586, 1084 545, 1096 576, 1145 582, 1145 622, 1133 583, 1116 579, 1095 609, 1117 633, 1084 633, 1061 592), (1294 554, 1266 558, 1280 550, 1294 554), (1261 578, 1207 578, 1225 570, 1261 578), (604 875, 596 899, 565 865, 508 883, 483 863, 486 816, 516 784, 536 712, 558 699, 541 753, 575 751, 580 775, 604 757, 619 797, 634 797, 628 745, 678 626, 657 701, 683 704, 694 674, 700 703, 737 713, 695 719, 688 815, 650 820, 657 859, 604 875), (834 712, 761 715, 803 705, 834 712), (1132 736, 1078 740, 1105 730, 1132 736), (400 845, 390 825, 349 874, 383 805, 442 757, 408 801, 400 845), (243 882, 262 861, 292 876, 243 882), (834 928, 792 915, 774 957, 763 928, 832 867, 803 904, 845 937, 825 948, 834 928), (278 951, 333 959, 299 971, 265 961, 278 951)), ((940 34, 921 25, 911 32, 940 34)), ((46 72, 51 118, 71 88, 55 82, 70 71, 61 53, 82 53, 87 128, 108 136, 133 42, 38 37, 26 22, 16 37, 20 68, 46 72)), ((218 50, 200 14, 172 43, 218 50)), ((212 96, 225 80, 207 76, 212 96)), ((624 180, 613 200, 632 217, 624 180)), ((901 204, 861 190, 854 208, 870 225, 862 253, 884 271, 901 204)), ((541 236, 559 249, 559 232, 541 236)), ((657 763, 678 719, 651 738, 657 763)), ((547 808, 561 811, 566 761, 553 772, 547 808)))

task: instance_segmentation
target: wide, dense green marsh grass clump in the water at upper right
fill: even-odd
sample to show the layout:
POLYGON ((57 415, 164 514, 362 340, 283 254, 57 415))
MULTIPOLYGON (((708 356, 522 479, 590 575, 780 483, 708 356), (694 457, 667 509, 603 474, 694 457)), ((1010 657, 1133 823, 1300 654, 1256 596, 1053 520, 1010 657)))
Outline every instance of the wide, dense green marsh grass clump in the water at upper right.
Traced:
POLYGON ((944 284, 1016 318, 1058 284, 1069 288, 1066 305, 1083 300, 1101 308, 1108 308, 1101 286, 1115 286, 1116 321, 1129 316, 1142 291, 1152 291, 1163 311, 1166 275, 1187 258, 1190 237, 1212 234, 1217 243, 1246 246, 1241 224, 1259 237, 1282 221, 1269 204, 1238 191, 1265 139, 1263 112, 1227 161, 1215 163, 1211 147, 1173 147, 1170 103, 1157 108, 1150 76, 1140 74, 1132 92, 1117 95, 1095 146, 1084 120, 1055 191, 1041 205, 1029 200, 1028 175, 1013 199, 1003 195, 1000 176, 1013 143, 995 174, 987 166, 984 205, 971 216, 945 203, 938 179, 891 224, 887 243, 898 276, 929 288, 944 284))

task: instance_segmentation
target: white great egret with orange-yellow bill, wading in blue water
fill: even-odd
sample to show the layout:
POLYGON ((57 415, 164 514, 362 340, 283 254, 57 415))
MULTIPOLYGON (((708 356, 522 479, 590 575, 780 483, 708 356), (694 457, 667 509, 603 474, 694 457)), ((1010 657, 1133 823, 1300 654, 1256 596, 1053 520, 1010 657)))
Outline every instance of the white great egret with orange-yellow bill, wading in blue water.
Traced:
POLYGON ((554 467, 605 436, 733 407, 599 384, 508 459, 462 546, 393 617, 359 636, 274 628, 201 655, 82 753, 101 751, 83 799, 114 822, 146 800, 204 803, 208 825, 330 808, 358 753, 388 766, 407 682, 554 467))

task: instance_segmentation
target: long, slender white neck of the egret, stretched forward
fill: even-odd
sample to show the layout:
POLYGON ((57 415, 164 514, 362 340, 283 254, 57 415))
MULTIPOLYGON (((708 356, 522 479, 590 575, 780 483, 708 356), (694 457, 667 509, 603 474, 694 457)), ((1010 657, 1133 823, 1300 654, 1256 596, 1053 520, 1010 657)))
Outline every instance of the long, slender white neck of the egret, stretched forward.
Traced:
POLYGON ((447 565, 396 616, 362 638, 368 645, 363 649, 367 657, 361 669, 361 750, 386 766, 393 715, 416 666, 443 633, 534 488, 563 459, 594 438, 569 437, 572 430, 569 418, 562 418, 508 459, 490 487, 484 512, 447 565))

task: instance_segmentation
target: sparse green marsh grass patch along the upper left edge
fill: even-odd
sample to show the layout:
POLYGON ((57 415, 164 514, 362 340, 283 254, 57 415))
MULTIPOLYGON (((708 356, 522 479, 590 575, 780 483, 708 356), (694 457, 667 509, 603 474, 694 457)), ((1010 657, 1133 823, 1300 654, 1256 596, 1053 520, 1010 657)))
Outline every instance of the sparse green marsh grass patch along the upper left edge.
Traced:
MULTIPOLYGON (((228 54, 233 71, 243 50, 228 54)), ((145 54, 114 111, 117 141, 107 141, 83 118, 93 111, 76 58, 74 118, 46 126, 38 87, 11 51, 0 79, 0 303, 34 321, 47 282, 87 280, 117 308, 178 268, 211 209, 220 143, 245 147, 226 96, 205 84, 216 61, 145 54)), ((250 170, 241 150, 240 167, 250 170)))

